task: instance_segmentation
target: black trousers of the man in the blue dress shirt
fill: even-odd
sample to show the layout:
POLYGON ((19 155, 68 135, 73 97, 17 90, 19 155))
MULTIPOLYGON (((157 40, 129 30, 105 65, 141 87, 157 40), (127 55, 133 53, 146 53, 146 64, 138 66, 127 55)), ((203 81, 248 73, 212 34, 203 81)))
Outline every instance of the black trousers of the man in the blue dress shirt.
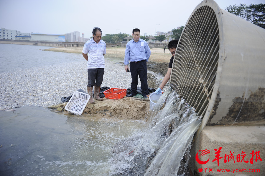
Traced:
POLYGON ((138 85, 138 75, 141 81, 142 95, 146 96, 149 94, 147 85, 147 66, 146 62, 141 61, 138 63, 130 62, 130 72, 131 72, 131 93, 136 94, 138 85))

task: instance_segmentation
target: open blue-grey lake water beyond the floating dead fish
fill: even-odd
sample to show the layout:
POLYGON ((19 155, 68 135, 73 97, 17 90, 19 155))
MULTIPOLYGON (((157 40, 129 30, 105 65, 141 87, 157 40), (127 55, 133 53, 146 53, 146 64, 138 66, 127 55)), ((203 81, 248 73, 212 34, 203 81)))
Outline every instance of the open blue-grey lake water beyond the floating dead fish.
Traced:
POLYGON ((0 72, 84 60, 82 54, 42 51, 51 47, 0 44, 0 72))

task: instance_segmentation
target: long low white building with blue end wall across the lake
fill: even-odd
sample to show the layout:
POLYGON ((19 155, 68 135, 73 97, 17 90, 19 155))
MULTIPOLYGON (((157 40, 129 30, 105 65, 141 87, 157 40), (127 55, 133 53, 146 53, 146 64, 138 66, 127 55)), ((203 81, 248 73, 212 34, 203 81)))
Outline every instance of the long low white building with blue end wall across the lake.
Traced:
POLYGON ((32 41, 65 42, 65 34, 39 34, 31 33, 32 41))

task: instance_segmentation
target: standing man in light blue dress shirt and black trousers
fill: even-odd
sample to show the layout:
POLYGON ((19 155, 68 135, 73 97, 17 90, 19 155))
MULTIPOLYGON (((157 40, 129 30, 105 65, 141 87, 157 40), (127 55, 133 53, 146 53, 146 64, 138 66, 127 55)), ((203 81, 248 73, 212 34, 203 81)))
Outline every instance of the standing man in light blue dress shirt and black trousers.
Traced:
POLYGON ((140 39, 140 29, 133 30, 133 39, 126 44, 125 55, 124 55, 124 69, 127 72, 129 69, 128 64, 130 60, 130 71, 131 71, 131 94, 126 97, 133 97, 136 95, 138 75, 141 81, 142 96, 147 98, 149 94, 147 85, 147 66, 146 62, 151 55, 151 50, 147 42, 140 39))

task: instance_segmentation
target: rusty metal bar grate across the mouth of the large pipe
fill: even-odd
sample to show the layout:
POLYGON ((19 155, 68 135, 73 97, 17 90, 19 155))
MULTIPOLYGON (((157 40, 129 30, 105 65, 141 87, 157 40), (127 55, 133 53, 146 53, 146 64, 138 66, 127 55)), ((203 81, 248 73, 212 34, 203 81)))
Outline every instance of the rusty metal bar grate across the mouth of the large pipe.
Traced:
POLYGON ((170 77, 172 89, 202 117, 213 92, 218 58, 218 21, 210 6, 202 6, 182 31, 170 77))

